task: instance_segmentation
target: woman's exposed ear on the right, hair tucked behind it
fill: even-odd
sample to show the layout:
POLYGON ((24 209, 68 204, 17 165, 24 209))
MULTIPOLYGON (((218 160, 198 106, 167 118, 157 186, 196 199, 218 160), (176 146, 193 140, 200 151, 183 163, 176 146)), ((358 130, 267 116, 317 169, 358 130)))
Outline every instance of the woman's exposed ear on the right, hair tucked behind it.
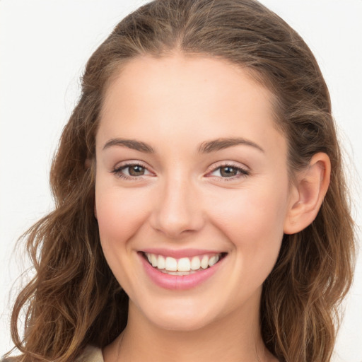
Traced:
POLYGON ((326 153, 316 153, 308 168, 296 175, 291 190, 284 233, 295 234, 313 223, 329 186, 331 163, 326 153))

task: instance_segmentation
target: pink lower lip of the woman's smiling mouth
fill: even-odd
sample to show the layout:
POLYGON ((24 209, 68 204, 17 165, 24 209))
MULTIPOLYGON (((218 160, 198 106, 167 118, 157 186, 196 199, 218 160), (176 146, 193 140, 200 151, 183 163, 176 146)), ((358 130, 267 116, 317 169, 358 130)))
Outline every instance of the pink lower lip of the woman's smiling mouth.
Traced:
POLYGON ((174 290, 185 290, 199 286, 215 274, 215 272, 220 267, 222 260, 224 259, 221 259, 221 261, 217 262, 212 267, 197 271, 193 274, 171 275, 163 273, 162 271, 159 271, 158 269, 152 267, 152 265, 146 261, 143 255, 139 255, 139 257, 141 257, 141 262, 144 265, 146 274, 153 281, 154 284, 165 289, 174 290))

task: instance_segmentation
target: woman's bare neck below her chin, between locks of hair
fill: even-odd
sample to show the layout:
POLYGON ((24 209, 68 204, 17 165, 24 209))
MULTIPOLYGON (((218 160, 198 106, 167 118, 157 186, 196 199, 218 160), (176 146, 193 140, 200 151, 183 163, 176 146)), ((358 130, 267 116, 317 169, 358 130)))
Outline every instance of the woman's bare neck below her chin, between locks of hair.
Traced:
POLYGON ((105 362, 269 362, 259 311, 235 310, 197 330, 174 331, 146 320, 131 302, 124 332, 103 351, 105 362))

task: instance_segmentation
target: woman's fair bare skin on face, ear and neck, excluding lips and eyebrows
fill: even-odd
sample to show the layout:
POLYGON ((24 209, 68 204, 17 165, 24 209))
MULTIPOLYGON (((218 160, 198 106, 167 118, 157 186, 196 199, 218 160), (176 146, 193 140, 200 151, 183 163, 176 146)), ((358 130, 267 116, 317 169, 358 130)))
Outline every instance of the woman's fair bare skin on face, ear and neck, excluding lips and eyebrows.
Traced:
POLYGON ((260 335, 262 283, 283 234, 315 218, 329 160, 316 155, 290 185, 271 100, 245 70, 181 54, 133 59, 110 84, 96 136, 95 216, 130 301, 127 328, 103 350, 105 362, 276 361, 260 335), (233 137, 249 144, 199 152, 233 137), (117 138, 154 152, 110 143, 117 138), (143 168, 119 170, 126 161, 143 168), (148 247, 227 255, 201 285, 175 291, 146 275, 139 252, 148 247))

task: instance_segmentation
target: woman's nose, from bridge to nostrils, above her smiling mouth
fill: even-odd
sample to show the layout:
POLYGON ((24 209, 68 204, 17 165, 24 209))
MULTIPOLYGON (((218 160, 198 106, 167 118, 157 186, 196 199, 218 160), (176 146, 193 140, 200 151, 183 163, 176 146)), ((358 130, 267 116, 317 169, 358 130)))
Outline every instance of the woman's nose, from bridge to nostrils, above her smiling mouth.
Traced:
POLYGON ((155 194, 151 226, 168 238, 177 239, 204 225, 201 195, 190 180, 173 177, 155 194))

